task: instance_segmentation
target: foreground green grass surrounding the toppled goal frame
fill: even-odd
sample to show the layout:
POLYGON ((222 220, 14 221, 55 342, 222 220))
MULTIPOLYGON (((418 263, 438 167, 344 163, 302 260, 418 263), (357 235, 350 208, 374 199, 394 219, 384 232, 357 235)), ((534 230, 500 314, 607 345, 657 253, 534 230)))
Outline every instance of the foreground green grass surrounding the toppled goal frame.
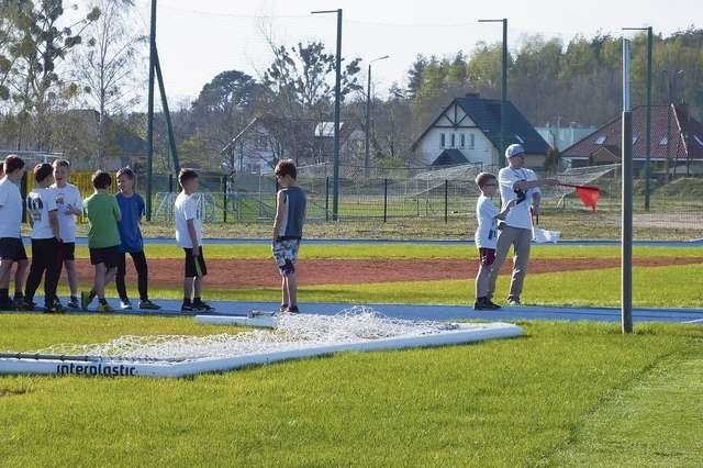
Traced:
MULTIPOLYGON (((191 379, 2 377, 0 460, 562 466, 581 464, 584 453, 593 465, 623 459, 643 466, 703 457, 700 412, 656 417, 656 425, 646 417, 667 408, 685 411, 696 399, 700 405, 700 385, 658 376, 659 369, 679 376, 677 369, 700 360, 703 328, 639 325, 636 335, 622 336, 615 325, 523 325, 526 336, 511 341, 341 354, 191 379), (652 381, 660 391, 639 391, 652 381), (643 409, 643 417, 615 426, 620 444, 589 453, 609 430, 595 422, 618 422, 621 402, 643 409), (656 458, 639 449, 656 442, 654 431, 671 448, 656 458)), ((204 330, 186 319, 26 315, 1 315, 0 328, 0 348, 14 349, 204 330)), ((690 368, 689 378, 701 370, 690 368)))

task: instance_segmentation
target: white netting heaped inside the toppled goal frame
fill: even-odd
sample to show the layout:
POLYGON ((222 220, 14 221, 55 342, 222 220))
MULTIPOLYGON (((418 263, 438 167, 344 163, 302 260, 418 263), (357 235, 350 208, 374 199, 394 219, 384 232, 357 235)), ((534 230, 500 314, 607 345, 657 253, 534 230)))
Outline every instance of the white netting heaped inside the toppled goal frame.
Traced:
POLYGON ((96 356, 138 361, 176 363, 289 350, 312 344, 345 344, 394 336, 420 336, 454 330, 456 324, 391 319, 367 307, 335 315, 281 314, 272 330, 208 336, 125 335, 108 343, 60 344, 30 354, 96 356))

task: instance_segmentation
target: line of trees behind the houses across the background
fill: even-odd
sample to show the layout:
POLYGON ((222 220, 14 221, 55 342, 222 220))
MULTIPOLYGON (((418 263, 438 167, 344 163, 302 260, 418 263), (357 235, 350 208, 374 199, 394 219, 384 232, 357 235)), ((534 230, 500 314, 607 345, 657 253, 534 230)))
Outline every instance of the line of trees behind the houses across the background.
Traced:
MULTIPOLYGON (((62 0, 2 0, 0 149, 60 152, 86 167, 102 167, 105 157, 124 149, 125 138, 145 140, 146 115, 135 109, 145 101, 148 40, 134 33, 133 9, 133 0, 93 0, 66 9, 62 0)), ((299 123, 332 121, 334 54, 314 41, 289 45, 269 40, 269 46, 271 64, 260 76, 223 70, 194 100, 176 105, 171 116, 182 165, 217 168, 220 151, 265 115, 272 119, 279 146, 299 163, 332 157, 299 123)), ((453 56, 419 55, 386 96, 371 98, 367 130, 362 63, 345 57, 342 120, 369 132, 373 166, 416 165, 410 146, 453 98, 467 92, 500 98, 501 63, 500 43, 479 42, 453 56)), ((701 116, 702 65, 703 30, 656 35, 652 102, 684 101, 701 116), (668 79, 674 76, 671 89, 668 79)), ((638 34, 633 37, 634 104, 645 102, 645 67, 646 36, 638 34)), ((557 121, 602 125, 621 110, 621 37, 596 34, 565 43, 528 36, 510 53, 509 99, 536 126, 557 121)), ((158 115, 155 131, 156 151, 165 155, 166 127, 158 115)), ((168 169, 167 158, 157 160, 168 169)))

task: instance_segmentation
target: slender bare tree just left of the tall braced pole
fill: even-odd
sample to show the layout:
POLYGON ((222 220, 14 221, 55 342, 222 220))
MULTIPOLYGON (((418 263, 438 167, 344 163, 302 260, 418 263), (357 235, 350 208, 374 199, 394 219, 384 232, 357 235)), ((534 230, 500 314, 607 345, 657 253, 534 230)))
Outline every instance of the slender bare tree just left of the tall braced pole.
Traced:
POLYGON ((72 75, 82 86, 86 103, 98 111, 98 167, 103 166, 110 145, 105 138, 109 115, 122 113, 140 101, 134 85, 141 75, 135 69, 140 48, 147 38, 131 34, 127 27, 133 7, 133 0, 97 0, 100 18, 86 30, 87 47, 74 56, 72 75))

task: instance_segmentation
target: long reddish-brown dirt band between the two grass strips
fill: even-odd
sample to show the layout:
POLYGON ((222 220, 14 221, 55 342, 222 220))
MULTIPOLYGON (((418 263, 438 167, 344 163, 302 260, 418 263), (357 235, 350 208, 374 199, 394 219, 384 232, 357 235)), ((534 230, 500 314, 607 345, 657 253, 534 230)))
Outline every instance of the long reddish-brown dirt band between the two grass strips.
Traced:
MULTIPOLYGON (((280 286, 280 276, 272 260, 207 260, 208 287, 247 288, 280 286)), ((689 258, 640 258, 634 260, 637 267, 703 264, 703 257, 689 258)), ((529 272, 555 272, 616 268, 620 258, 553 258, 534 259, 529 272)), ((507 260, 501 274, 510 274, 512 263, 507 260)), ((92 279, 92 267, 88 260, 77 261, 81 281, 92 279)), ((355 285, 391 281, 423 281, 440 279, 466 279, 476 277, 478 261, 473 258, 458 259, 347 259, 321 260, 302 259, 298 266, 301 285, 355 285)), ((177 287, 182 283, 182 260, 149 260, 149 285, 154 287, 177 287)), ((136 276, 127 257, 127 285, 136 286, 136 276)))

